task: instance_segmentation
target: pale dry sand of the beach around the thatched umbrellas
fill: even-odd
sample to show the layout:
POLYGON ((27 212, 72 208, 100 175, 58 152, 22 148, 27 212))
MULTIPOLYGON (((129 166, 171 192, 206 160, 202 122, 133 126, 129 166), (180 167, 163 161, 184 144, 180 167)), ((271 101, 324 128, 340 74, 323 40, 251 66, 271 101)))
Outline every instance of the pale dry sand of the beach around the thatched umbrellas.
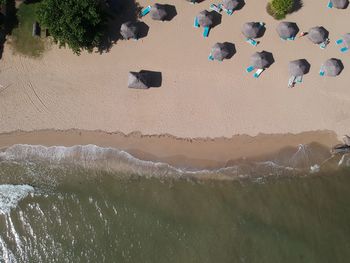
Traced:
MULTIPOLYGON (((330 32, 331 44, 321 50, 307 38, 281 41, 276 33, 279 22, 266 13, 265 1, 246 1, 232 16, 223 13, 221 24, 210 31, 207 39, 202 29, 193 27, 193 19, 212 1, 196 5, 178 0, 161 3, 176 6, 177 15, 171 21, 153 21, 146 16, 143 21, 149 26, 147 37, 118 41, 105 54, 76 56, 68 49, 53 46, 42 57, 32 59, 14 54, 6 45, 0 60, 0 133, 79 129, 181 138, 252 138, 260 133, 310 135, 323 131, 327 139, 301 139, 303 136, 295 135, 298 140, 292 143, 318 141, 325 146, 349 133, 350 58, 334 44, 347 33, 344 21, 350 18, 349 9, 329 10, 325 1, 310 0, 285 19, 296 22, 301 31, 324 26, 330 32), (247 44, 241 33, 242 25, 250 21, 266 23, 267 30, 258 47, 247 44), (222 63, 208 61, 211 47, 226 41, 235 45, 236 54, 222 63), (262 50, 272 52, 275 63, 254 79, 245 68, 250 56, 262 50), (342 60, 343 72, 335 78, 321 78, 320 66, 333 57, 342 60), (288 89, 288 62, 301 58, 311 64, 310 72, 302 85, 288 89), (128 89, 128 72, 142 69, 162 72, 161 87, 128 89)), ((152 2, 142 0, 140 4, 152 2)), ((10 140, 6 136, 1 137, 0 145, 23 141, 23 137, 10 140)), ((51 144, 60 142, 64 143, 53 139, 51 144)), ((148 152, 156 154, 152 145, 148 143, 148 152)), ((290 145, 287 140, 271 149, 290 145)), ((187 148, 179 154, 184 149, 187 148)), ((238 157, 230 152, 223 159, 219 155, 212 159, 238 157)), ((240 156, 246 155, 249 154, 240 156)), ((194 155, 189 154, 189 158, 194 155)), ((200 155, 196 158, 210 159, 200 155)))

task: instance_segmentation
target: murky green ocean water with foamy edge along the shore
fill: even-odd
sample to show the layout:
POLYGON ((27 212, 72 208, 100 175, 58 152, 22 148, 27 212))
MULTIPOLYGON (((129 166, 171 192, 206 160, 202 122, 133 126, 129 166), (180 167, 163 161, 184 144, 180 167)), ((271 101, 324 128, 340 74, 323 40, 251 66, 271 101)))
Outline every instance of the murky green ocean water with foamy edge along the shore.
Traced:
POLYGON ((349 262, 350 158, 215 171, 93 145, 0 152, 0 262, 349 262))

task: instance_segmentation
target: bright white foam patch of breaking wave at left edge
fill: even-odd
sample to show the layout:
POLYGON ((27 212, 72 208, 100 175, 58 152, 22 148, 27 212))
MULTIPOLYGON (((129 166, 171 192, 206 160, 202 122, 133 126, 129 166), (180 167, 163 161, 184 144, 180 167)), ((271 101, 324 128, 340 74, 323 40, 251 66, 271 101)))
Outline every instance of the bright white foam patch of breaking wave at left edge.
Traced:
POLYGON ((30 185, 0 185, 0 214, 8 214, 20 200, 34 192, 30 185))

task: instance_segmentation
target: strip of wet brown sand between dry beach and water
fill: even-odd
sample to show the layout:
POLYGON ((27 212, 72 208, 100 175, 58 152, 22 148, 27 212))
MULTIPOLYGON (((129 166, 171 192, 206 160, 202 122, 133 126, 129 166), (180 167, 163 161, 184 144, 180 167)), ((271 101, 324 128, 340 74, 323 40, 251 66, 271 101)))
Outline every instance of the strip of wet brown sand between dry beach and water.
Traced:
POLYGON ((93 144, 126 151, 140 160, 188 169, 217 169, 240 162, 273 160, 295 153, 299 144, 312 145, 319 153, 327 156, 330 148, 337 143, 337 134, 332 131, 259 134, 254 137, 234 135, 231 138, 179 138, 169 134, 124 134, 77 129, 0 134, 0 148, 14 144, 66 147, 93 144))

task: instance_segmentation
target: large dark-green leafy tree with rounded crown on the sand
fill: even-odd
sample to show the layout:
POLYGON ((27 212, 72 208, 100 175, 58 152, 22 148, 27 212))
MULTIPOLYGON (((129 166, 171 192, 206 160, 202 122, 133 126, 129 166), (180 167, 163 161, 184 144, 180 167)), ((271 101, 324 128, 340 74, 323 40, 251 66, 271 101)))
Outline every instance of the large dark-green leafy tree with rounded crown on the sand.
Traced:
POLYGON ((107 14, 99 0, 43 0, 37 16, 60 46, 78 55, 97 47, 106 30, 107 14))

